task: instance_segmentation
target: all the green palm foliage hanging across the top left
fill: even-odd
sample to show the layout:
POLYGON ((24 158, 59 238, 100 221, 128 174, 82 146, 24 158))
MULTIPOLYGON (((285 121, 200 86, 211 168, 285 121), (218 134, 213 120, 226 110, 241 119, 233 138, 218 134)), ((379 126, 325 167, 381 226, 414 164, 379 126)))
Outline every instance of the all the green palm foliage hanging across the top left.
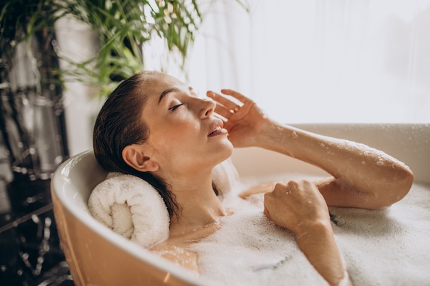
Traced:
MULTIPOLYGON (((236 2, 247 9, 245 0, 236 2)), ((73 16, 93 29, 98 36, 100 49, 93 58, 82 62, 63 58, 71 63, 71 68, 61 73, 72 80, 96 86, 101 95, 106 95, 120 80, 144 69, 142 48, 154 36, 165 40, 169 51, 179 52, 185 62, 188 48, 203 20, 204 12, 201 12, 199 3, 202 2, 7 0, 0 14, 1 48, 11 50, 6 49, 8 47, 4 47, 4 44, 13 48, 20 40, 30 42, 35 32, 52 31, 58 19, 66 15, 73 16)))

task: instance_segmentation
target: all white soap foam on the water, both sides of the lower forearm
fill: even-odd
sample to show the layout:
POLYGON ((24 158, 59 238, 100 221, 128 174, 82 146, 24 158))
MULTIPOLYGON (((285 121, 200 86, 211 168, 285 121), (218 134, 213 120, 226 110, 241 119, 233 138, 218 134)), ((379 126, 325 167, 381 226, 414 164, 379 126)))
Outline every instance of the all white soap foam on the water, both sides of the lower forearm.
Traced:
MULTIPOLYGON (((296 177, 292 179, 313 179, 296 177)), ((239 191, 256 182, 226 195, 223 205, 233 214, 220 219, 220 230, 191 246, 199 253, 204 281, 229 286, 328 285, 299 250, 293 233, 263 214, 264 195, 238 198, 239 191)), ((355 285, 429 283, 430 184, 414 184, 403 200, 383 210, 330 208, 330 212, 336 221, 335 239, 355 285)))

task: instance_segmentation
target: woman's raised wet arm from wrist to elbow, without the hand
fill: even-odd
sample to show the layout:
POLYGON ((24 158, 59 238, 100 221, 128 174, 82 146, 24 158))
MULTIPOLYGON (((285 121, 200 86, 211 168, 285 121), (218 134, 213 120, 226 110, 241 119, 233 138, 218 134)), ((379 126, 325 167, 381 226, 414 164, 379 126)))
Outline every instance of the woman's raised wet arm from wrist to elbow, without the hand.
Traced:
POLYGON ((260 147, 324 169, 334 178, 317 182, 330 206, 381 208, 402 199, 414 180, 409 167, 363 144, 271 123, 260 147))

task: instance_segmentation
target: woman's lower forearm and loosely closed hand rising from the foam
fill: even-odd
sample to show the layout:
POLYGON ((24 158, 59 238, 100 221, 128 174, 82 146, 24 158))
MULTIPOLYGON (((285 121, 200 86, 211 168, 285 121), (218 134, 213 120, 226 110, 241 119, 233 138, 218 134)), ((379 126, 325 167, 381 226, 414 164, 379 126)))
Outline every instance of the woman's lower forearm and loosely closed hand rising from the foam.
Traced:
POLYGON ((315 184, 306 180, 276 184, 264 195, 264 213, 293 231, 300 250, 330 285, 348 282, 326 202, 315 184))

